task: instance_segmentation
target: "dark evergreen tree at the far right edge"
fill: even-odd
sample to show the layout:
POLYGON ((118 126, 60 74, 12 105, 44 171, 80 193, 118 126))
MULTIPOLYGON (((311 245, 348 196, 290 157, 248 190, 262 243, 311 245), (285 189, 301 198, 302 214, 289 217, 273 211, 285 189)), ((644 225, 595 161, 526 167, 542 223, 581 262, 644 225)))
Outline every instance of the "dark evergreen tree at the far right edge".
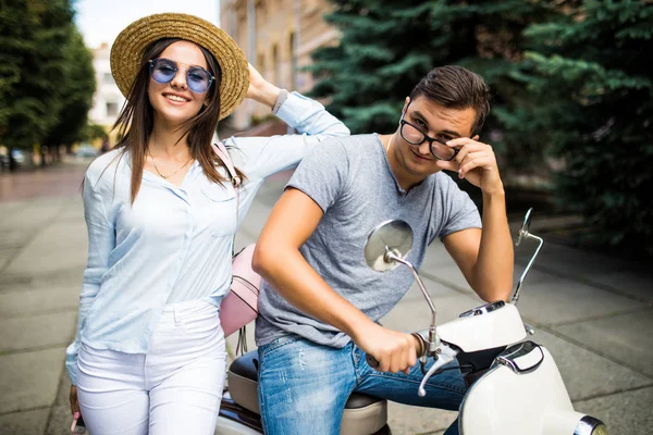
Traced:
POLYGON ((521 119, 560 159, 556 187, 567 209, 593 227, 588 241, 653 253, 653 7, 569 2, 557 20, 526 35, 521 64, 533 97, 521 119))

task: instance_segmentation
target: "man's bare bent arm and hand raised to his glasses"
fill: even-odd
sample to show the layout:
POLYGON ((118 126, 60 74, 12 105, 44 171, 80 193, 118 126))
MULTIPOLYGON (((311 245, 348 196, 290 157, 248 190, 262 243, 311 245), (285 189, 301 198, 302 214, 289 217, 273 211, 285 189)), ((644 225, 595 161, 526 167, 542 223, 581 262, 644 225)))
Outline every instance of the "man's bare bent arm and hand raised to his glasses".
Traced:
MULTIPOLYGON (((478 138, 475 137, 475 139, 478 138)), ((485 301, 507 300, 513 286, 513 240, 506 216, 506 200, 492 147, 469 138, 449 141, 460 147, 446 170, 479 187, 483 194, 483 229, 470 228, 443 238, 471 288, 485 301)))

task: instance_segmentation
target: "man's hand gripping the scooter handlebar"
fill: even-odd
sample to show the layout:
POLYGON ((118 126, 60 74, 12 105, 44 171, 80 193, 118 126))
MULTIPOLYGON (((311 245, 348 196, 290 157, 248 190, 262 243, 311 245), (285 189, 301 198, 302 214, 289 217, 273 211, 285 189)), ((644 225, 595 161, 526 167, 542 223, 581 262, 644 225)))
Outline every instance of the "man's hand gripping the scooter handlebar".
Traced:
POLYGON ((379 372, 408 373, 417 363, 417 352, 421 347, 412 335, 371 322, 353 338, 356 346, 379 361, 379 366, 374 368, 379 372))

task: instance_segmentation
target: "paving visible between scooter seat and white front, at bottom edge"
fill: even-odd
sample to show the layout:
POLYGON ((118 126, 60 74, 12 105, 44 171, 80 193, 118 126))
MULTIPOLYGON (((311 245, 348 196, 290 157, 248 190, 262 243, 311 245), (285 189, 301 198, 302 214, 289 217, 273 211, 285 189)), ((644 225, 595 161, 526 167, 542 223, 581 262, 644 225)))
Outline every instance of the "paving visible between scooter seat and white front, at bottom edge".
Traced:
POLYGON ((387 422, 393 435, 431 434, 434 431, 444 431, 457 417, 458 412, 455 411, 387 402, 387 422))

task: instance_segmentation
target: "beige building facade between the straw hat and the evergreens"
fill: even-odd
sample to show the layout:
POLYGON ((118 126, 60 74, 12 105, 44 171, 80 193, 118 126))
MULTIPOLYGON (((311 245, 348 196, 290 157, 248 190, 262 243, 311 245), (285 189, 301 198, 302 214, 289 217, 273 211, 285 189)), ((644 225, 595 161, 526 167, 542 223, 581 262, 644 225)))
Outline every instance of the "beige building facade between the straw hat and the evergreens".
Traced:
MULTIPOLYGON (((328 0, 221 0, 220 26, 245 52, 249 63, 281 88, 309 90, 313 79, 301 67, 318 47, 337 44, 338 32, 322 20, 328 0)), ((270 112, 245 101, 233 125, 247 128, 270 112)))

